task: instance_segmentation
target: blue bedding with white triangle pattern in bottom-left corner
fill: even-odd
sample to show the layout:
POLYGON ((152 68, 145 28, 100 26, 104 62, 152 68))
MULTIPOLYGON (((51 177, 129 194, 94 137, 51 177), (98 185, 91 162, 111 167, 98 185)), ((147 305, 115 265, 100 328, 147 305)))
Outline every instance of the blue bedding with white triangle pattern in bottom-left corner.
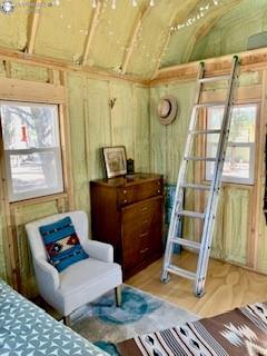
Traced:
POLYGON ((1 280, 0 355, 107 356, 1 280))

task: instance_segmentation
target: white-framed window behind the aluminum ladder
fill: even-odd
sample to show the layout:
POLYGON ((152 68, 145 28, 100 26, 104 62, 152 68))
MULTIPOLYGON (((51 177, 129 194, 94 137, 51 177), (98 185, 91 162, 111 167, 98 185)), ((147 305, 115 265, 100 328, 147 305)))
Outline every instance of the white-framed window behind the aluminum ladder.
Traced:
MULTIPOLYGON (((208 109, 207 128, 220 129, 224 107, 208 109)), ((222 181, 254 184, 256 105, 240 105, 233 110, 230 134, 222 170, 222 181)), ((219 135, 207 135, 206 156, 215 157, 219 135)), ((206 179, 214 175, 215 162, 206 164, 206 179)))

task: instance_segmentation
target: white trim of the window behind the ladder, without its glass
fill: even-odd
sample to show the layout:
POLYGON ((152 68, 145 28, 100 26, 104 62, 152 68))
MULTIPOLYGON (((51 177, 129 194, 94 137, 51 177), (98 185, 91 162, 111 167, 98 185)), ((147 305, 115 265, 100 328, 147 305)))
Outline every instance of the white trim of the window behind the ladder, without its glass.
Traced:
MULTIPOLYGON (((236 107, 256 107, 256 112, 258 111, 258 106, 255 103, 239 103, 235 105, 234 108, 236 107)), ((221 107, 221 106, 215 106, 215 107, 221 107)), ((256 119, 255 119, 255 130, 257 128, 257 118, 258 115, 256 113, 256 119)), ((254 142, 233 142, 228 141, 227 142, 227 148, 228 147, 248 147, 249 148, 249 177, 248 178, 240 178, 240 177, 235 177, 235 176, 225 176, 221 175, 221 181, 224 182, 229 182, 229 184, 237 184, 237 185, 247 185, 247 186, 253 186, 255 184, 255 152, 256 152, 256 131, 255 131, 255 141, 254 142)), ((207 154, 207 151, 206 151, 207 154)), ((210 162, 207 162, 205 165, 205 180, 212 180, 214 175, 210 174, 210 162)))

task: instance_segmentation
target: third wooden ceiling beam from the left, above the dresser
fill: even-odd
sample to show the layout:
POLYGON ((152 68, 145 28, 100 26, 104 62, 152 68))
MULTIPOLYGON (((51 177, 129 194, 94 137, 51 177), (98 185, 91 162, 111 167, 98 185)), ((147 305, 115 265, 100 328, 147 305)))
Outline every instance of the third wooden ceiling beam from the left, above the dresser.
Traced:
POLYGON ((123 55, 123 58, 122 58, 122 65, 121 65, 122 75, 125 75, 127 72, 127 69, 128 69, 128 66, 129 66, 129 61, 130 61, 130 58, 131 58, 134 49, 135 49, 135 43, 137 41, 138 32, 139 32, 139 30, 141 28, 144 19, 149 13, 150 9, 151 9, 151 7, 148 6, 148 7, 146 7, 144 10, 141 10, 138 13, 138 19, 135 22, 135 26, 134 26, 134 29, 132 29, 132 32, 131 32, 131 36, 130 36, 129 44, 126 47, 126 51, 125 51, 125 55, 123 55))

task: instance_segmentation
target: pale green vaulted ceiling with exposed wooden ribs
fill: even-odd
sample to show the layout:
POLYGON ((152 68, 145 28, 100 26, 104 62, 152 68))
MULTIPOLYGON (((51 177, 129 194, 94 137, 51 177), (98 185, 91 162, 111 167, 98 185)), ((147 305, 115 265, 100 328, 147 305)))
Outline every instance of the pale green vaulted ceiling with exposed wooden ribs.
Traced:
POLYGON ((34 0, 30 8, 13 2, 11 14, 0 14, 1 47, 142 78, 161 67, 244 51, 249 36, 267 30, 266 0, 155 0, 155 7, 117 0, 116 10, 108 0, 96 9, 91 0, 52 7, 34 0))

